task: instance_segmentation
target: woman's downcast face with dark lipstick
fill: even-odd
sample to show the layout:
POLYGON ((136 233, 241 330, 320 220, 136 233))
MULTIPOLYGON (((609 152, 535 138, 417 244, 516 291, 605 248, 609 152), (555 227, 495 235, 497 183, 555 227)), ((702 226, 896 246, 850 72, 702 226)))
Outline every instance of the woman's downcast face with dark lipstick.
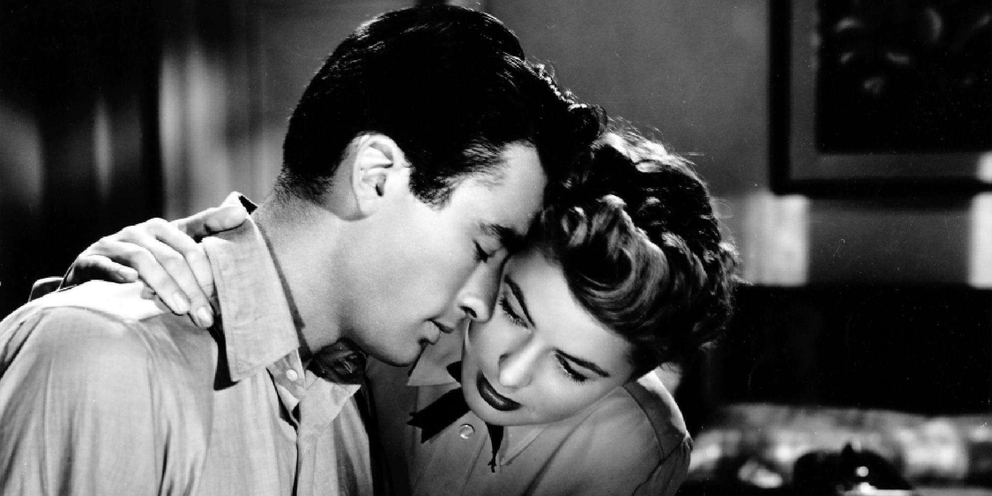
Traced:
POLYGON ((630 379, 631 344, 568 291, 536 249, 507 266, 497 309, 465 335, 465 401, 489 424, 549 424, 574 416, 630 379))

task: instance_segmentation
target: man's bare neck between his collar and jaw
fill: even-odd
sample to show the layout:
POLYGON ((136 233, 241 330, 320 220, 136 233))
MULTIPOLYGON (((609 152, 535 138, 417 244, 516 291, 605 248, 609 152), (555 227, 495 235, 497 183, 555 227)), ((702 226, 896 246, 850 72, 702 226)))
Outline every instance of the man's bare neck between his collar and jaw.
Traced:
POLYGON ((279 273, 305 366, 313 353, 341 338, 342 289, 334 277, 333 256, 340 236, 328 215, 302 200, 272 199, 252 213, 279 273))

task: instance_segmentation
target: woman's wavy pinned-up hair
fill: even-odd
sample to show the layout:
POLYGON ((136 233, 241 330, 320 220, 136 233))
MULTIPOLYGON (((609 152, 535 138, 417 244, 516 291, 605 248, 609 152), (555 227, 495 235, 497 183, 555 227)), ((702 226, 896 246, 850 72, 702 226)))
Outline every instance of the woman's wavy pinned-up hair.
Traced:
POLYGON ((574 298, 633 344, 635 377, 723 331, 737 252, 682 157, 614 123, 532 232, 574 298))

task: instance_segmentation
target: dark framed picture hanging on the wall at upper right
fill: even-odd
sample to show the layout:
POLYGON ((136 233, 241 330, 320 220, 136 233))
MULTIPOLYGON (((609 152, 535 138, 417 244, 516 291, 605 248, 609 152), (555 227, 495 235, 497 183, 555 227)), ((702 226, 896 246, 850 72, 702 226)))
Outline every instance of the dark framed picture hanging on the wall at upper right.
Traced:
POLYGON ((992 189, 992 2, 771 2, 772 185, 992 189))

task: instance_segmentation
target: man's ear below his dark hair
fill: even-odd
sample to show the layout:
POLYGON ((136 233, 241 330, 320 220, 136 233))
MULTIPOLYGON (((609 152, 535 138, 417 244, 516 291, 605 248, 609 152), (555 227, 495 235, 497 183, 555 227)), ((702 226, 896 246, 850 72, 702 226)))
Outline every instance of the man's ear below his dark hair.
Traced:
MULTIPOLYGON (((366 134, 355 138, 351 165, 351 193, 360 216, 374 213, 381 206, 387 186, 402 183, 408 187, 410 165, 392 138, 366 134)), ((392 189, 392 188, 390 188, 392 189)))

